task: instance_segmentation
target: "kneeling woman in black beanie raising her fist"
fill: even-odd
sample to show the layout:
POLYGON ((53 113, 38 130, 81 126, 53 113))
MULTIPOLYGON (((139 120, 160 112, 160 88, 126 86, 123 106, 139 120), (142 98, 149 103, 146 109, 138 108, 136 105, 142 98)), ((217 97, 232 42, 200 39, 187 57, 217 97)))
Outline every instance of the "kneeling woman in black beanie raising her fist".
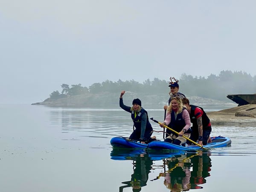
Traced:
POLYGON ((134 99, 132 102, 132 107, 126 106, 123 103, 122 96, 125 94, 123 90, 120 94, 119 106, 131 113, 131 119, 134 122, 134 131, 130 135, 129 139, 131 140, 140 140, 142 142, 151 140, 151 135, 153 128, 148 120, 148 112, 141 107, 140 99, 134 99))

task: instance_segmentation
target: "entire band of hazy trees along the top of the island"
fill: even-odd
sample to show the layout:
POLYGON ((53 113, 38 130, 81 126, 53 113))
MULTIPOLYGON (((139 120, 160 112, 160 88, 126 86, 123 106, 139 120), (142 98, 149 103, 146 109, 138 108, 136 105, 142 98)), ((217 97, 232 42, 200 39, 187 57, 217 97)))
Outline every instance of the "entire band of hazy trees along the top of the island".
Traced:
MULTIPOLYGON (((177 77, 175 77, 178 79, 177 77)), ((180 76, 179 85, 180 92, 186 96, 200 96, 204 98, 216 99, 220 101, 230 101, 227 99, 228 94, 254 94, 256 93, 256 76, 251 76, 245 72, 232 72, 223 70, 216 76, 211 74, 207 78, 201 76, 191 76, 183 73, 180 76)), ((143 83, 134 81, 116 82, 106 80, 102 83, 94 83, 87 87, 81 84, 71 85, 62 84, 62 91, 53 91, 49 99, 61 99, 70 96, 83 94, 99 94, 99 93, 120 93, 121 90, 131 91, 134 93, 143 93, 146 95, 160 95, 169 92, 169 81, 154 78, 152 81, 146 79, 143 83)))

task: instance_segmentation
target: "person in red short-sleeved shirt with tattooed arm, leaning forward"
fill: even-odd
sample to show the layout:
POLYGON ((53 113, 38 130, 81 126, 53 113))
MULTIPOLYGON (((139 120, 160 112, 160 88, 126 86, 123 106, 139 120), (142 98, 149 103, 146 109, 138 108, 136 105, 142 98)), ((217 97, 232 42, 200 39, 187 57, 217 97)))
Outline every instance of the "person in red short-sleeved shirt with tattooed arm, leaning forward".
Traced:
MULTIPOLYGON (((189 111, 190 121, 192 122, 190 139, 195 142, 198 140, 199 145, 206 145, 212 131, 210 119, 203 108, 189 105, 189 99, 184 98, 182 102, 189 111)), ((191 144, 190 141, 187 141, 187 143, 191 144)))

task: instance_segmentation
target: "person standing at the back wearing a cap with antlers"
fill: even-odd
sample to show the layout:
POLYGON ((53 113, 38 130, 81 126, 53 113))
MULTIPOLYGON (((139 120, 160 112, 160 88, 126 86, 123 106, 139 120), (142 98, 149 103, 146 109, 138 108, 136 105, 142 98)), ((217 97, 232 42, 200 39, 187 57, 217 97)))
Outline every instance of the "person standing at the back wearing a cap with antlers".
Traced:
MULTIPOLYGON (((170 82, 169 82, 169 87, 170 87, 170 98, 168 100, 168 105, 163 106, 163 109, 166 111, 167 108, 169 107, 172 98, 174 97, 180 97, 180 99, 186 98, 186 96, 183 93, 179 92, 179 80, 176 80, 174 77, 170 77, 170 82)), ((167 125, 168 127, 170 127, 169 125, 167 125)), ((168 135, 171 134, 171 131, 169 129, 166 130, 166 137, 168 137, 168 135)))

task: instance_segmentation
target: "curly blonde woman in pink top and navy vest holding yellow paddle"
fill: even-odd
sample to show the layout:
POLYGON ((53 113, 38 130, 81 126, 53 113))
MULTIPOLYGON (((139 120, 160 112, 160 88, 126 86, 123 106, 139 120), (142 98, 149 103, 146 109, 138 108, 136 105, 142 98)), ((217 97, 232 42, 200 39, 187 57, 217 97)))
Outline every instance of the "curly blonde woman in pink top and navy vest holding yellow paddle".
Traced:
POLYGON ((169 136, 164 140, 168 143, 173 143, 175 145, 182 145, 186 143, 186 139, 182 137, 183 135, 189 137, 189 133, 186 133, 190 128, 189 112, 183 107, 181 99, 179 97, 172 98, 171 105, 169 105, 166 113, 166 118, 161 127, 164 125, 169 125, 174 131, 177 131, 179 135, 174 132, 170 132, 169 136))

